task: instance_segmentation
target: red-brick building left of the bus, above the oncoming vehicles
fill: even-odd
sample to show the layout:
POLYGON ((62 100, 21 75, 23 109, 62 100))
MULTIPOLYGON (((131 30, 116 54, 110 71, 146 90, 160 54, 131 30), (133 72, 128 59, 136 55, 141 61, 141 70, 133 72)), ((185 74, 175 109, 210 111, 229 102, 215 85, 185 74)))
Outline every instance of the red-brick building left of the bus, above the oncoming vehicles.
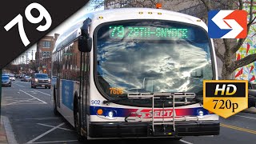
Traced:
POLYGON ((37 42, 35 61, 39 72, 50 74, 51 52, 54 50, 58 36, 59 34, 45 36, 37 42))

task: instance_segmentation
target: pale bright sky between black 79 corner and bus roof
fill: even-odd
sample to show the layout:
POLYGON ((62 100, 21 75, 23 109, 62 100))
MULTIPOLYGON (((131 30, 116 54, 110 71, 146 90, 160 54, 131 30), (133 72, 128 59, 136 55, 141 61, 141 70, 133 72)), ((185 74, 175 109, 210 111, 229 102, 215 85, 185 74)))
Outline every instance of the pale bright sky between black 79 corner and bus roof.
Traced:
MULTIPOLYGON (((98 11, 98 10, 103 10, 104 7, 102 6, 101 8, 94 10, 94 5, 90 2, 88 2, 85 6, 82 6, 80 10, 78 10, 76 13, 74 13, 70 18, 67 18, 64 22, 62 22, 61 25, 57 26, 54 30, 50 31, 49 34, 46 34, 48 36, 54 36, 54 34, 62 34, 64 30, 66 30, 66 26, 72 26, 74 22, 78 20, 78 18, 81 18, 82 15, 93 12, 93 11, 98 11)), ((32 59, 33 55, 33 60, 35 59, 35 52, 36 52, 36 43, 31 46, 28 50, 26 50, 23 54, 21 54, 18 58, 16 58, 13 62, 16 64, 17 62, 22 62, 22 56, 23 56, 23 62, 26 62, 26 54, 27 58, 29 60, 32 59), (32 54, 33 53, 33 54, 32 54)))

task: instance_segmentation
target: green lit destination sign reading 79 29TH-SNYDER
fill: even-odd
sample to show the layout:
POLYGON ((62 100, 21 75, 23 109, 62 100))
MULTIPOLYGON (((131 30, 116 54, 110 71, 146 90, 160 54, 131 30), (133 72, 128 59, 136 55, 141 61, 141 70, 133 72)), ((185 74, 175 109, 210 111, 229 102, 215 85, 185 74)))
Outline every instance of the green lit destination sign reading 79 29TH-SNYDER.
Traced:
POLYGON ((188 38, 186 28, 154 26, 109 26, 109 36, 114 39, 160 39, 188 38))

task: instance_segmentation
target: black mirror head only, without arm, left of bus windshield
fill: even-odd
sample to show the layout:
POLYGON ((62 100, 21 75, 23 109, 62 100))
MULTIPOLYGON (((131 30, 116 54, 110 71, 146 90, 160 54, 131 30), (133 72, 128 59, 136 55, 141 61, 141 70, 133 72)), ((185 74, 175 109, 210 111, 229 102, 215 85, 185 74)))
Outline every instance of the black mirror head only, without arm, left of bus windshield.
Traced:
POLYGON ((78 50, 81 52, 90 52, 92 46, 92 38, 85 36, 79 36, 78 38, 78 50))

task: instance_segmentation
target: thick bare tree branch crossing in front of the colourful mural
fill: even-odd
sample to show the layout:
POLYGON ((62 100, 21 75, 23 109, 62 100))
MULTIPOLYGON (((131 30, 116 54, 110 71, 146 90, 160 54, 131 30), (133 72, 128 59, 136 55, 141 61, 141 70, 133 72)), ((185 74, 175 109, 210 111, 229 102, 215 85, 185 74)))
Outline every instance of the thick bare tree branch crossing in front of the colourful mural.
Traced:
POLYGON ((252 62, 256 61, 256 54, 250 54, 245 58, 241 58, 238 61, 232 62, 230 68, 232 71, 238 69, 239 67, 249 65, 252 62))

